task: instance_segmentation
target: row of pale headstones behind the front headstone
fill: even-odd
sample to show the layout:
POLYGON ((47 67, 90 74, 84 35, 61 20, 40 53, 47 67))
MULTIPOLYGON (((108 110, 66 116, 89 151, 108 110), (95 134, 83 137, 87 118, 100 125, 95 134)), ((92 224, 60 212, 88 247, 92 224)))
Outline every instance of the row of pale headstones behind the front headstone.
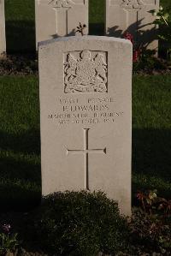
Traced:
MULTIPOLYGON (((97 1, 98 2, 98 1, 97 1)), ((138 44, 156 50, 155 17, 159 0, 106 0, 104 35, 122 38, 128 32, 138 44)), ((36 47, 38 42, 89 33, 89 0, 35 0, 36 47)), ((0 53, 6 52, 4 0, 0 0, 0 53)))

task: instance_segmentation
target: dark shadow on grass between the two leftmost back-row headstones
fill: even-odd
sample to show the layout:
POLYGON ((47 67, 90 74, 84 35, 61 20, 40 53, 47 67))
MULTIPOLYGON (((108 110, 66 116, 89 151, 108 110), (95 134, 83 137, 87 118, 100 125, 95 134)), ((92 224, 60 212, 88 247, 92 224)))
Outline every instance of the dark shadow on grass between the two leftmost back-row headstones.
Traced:
POLYGON ((8 53, 35 52, 35 23, 33 21, 6 21, 6 41, 8 53))

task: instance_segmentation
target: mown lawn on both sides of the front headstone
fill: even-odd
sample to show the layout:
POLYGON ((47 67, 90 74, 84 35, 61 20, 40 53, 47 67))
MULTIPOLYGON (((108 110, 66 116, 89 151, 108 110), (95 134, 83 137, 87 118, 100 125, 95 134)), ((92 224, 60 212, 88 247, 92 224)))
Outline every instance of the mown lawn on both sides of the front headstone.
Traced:
MULTIPOLYGON (((171 75, 133 77, 133 194, 171 194, 171 75)), ((0 77, 0 202, 21 209, 41 195, 38 78, 0 77)))

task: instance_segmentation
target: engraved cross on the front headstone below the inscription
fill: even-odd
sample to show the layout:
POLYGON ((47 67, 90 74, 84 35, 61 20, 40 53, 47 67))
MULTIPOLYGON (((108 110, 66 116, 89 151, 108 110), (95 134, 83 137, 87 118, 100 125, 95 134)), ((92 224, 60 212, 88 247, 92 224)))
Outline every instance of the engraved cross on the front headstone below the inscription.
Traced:
POLYGON ((89 190, 89 154, 91 153, 104 153, 106 154, 106 147, 103 149, 90 149, 88 143, 88 132, 90 128, 84 128, 84 148, 78 150, 67 150, 67 154, 84 154, 85 161, 85 189, 89 190))

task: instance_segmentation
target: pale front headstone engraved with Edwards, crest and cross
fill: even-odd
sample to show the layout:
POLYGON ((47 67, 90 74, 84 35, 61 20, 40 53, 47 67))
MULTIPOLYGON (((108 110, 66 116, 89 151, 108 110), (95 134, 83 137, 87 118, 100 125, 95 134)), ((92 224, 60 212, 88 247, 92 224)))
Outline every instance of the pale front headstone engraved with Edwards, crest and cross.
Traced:
POLYGON ((38 48, 43 194, 102 190, 130 214, 132 44, 85 36, 38 48))

